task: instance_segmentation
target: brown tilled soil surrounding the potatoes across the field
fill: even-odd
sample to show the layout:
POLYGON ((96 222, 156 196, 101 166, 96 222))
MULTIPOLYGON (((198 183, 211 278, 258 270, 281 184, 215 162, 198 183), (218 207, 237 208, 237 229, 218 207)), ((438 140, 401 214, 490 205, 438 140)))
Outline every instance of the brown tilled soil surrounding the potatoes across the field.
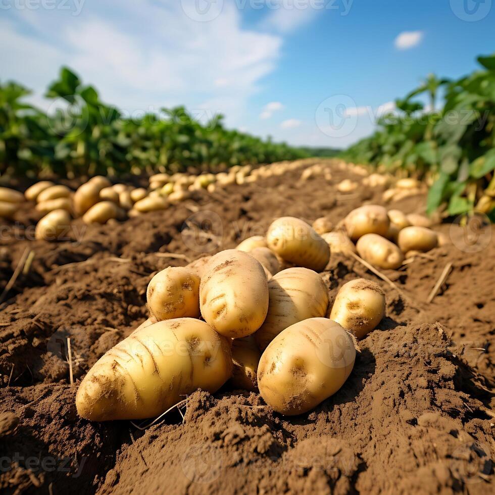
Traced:
MULTIPOLYGON (((321 162, 321 160, 320 160, 321 162)), ((316 163, 308 161, 308 165, 316 163)), ((78 418, 77 383, 147 317, 157 271, 233 248, 273 219, 338 222, 381 191, 336 192, 362 177, 329 161, 333 179, 301 170, 232 185, 164 212, 83 226, 70 239, 34 241, 25 208, 3 227, 0 290, 26 249, 34 253, 0 305, 0 490, 3 493, 487 493, 495 460, 495 245, 490 226, 444 223, 452 243, 384 273, 332 255, 330 300, 364 277, 387 312, 360 341, 344 386, 314 411, 283 417, 258 393, 227 383, 196 391, 157 424, 78 418), (474 237, 473 237, 474 236, 474 237), (447 282, 427 303, 445 265, 447 282), (69 381, 70 338, 74 384, 69 381), (137 426, 143 425, 143 429, 137 426)), ((424 195, 390 208, 422 213, 424 195)))

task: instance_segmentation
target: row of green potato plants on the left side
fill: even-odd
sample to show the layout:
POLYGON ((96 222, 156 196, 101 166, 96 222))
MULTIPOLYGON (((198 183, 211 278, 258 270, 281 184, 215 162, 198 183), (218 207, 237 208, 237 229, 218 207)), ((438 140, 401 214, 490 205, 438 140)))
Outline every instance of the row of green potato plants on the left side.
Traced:
POLYGON ((124 118, 65 67, 45 94, 56 111, 43 113, 22 103, 29 93, 16 83, 0 83, 1 175, 218 170, 308 156, 284 143, 226 129, 221 115, 202 124, 183 107, 124 118))

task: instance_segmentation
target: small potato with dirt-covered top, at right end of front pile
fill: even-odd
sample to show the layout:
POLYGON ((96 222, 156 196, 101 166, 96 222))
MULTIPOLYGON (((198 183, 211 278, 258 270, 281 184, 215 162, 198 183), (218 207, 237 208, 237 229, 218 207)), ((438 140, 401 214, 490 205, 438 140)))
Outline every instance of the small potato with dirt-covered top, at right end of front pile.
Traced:
POLYGON ((358 278, 340 287, 330 313, 357 338, 364 338, 385 316, 385 294, 378 284, 358 278))

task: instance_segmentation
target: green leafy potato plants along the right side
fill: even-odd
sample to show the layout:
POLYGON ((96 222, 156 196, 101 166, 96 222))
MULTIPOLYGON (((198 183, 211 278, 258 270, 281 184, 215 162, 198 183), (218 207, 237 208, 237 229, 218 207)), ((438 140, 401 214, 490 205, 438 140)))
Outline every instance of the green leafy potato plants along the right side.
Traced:
POLYGON ((450 215, 495 208, 495 55, 478 57, 482 70, 457 81, 429 75, 419 88, 397 100, 397 113, 384 116, 379 130, 340 156, 432 183, 428 212, 445 205, 450 215), (444 106, 435 110, 439 88, 444 106), (413 100, 429 98, 429 111, 413 100))

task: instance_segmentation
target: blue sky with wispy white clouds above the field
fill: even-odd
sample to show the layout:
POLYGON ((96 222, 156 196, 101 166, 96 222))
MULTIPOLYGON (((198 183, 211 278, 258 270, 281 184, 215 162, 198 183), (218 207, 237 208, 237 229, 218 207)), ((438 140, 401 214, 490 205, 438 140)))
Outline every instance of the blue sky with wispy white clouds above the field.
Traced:
POLYGON ((492 4, 0 0, 0 77, 47 109, 42 93, 68 65, 129 115, 183 104, 253 134, 343 147, 428 73, 458 77, 494 52, 492 4))

